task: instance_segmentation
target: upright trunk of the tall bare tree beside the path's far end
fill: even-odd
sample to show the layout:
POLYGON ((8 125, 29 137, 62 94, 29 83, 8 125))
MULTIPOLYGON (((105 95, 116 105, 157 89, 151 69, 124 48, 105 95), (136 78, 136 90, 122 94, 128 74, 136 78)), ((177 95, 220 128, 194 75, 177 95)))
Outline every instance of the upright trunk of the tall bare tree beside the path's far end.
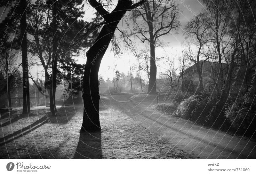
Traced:
POLYGON ((150 76, 148 94, 156 94, 156 54, 155 43, 153 39, 150 42, 150 76))

